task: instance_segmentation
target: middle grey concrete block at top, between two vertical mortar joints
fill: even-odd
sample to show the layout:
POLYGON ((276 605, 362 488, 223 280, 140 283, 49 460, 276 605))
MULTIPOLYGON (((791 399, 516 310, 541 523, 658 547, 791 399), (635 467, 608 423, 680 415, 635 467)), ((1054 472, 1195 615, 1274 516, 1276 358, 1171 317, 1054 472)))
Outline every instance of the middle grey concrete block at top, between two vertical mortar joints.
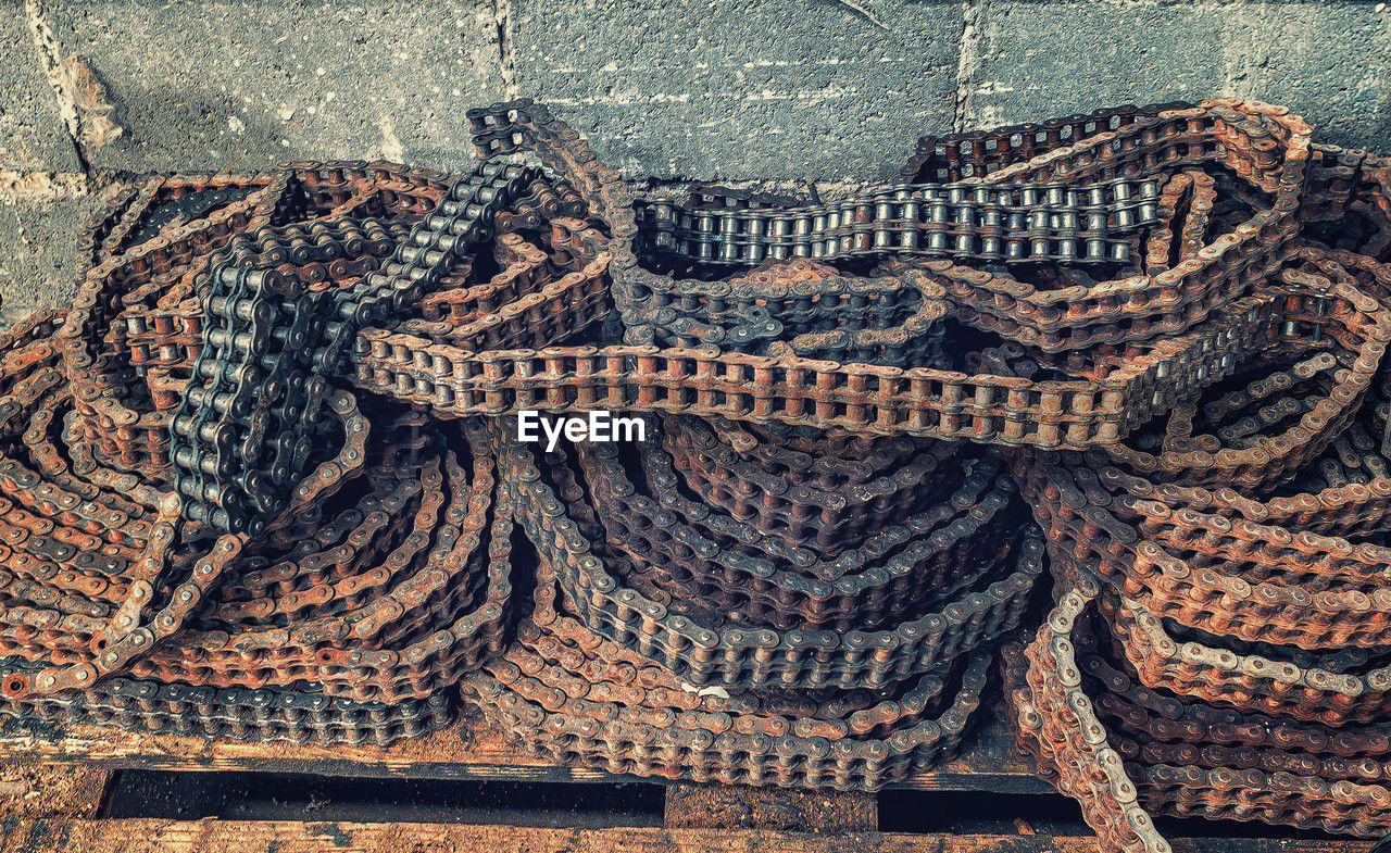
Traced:
POLYGON ((964 4, 860 6, 515 0, 517 78, 629 177, 886 177, 951 129, 964 4))

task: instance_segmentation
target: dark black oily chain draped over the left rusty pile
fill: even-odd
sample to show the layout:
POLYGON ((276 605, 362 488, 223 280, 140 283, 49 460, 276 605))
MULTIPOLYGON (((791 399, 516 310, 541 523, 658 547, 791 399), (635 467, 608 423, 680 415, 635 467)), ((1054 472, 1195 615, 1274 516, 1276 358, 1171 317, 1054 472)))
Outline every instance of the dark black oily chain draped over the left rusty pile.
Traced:
POLYGON ((434 291, 537 177, 484 161, 399 244, 385 223, 345 220, 285 245, 263 231, 214 260, 202 295, 203 346, 170 427, 185 518, 259 533, 285 505, 325 429, 327 377, 341 372, 356 330, 434 291), (353 287, 323 287, 306 274, 310 264, 327 264, 330 278, 363 278, 353 287), (342 264, 337 276, 334 264, 342 264))

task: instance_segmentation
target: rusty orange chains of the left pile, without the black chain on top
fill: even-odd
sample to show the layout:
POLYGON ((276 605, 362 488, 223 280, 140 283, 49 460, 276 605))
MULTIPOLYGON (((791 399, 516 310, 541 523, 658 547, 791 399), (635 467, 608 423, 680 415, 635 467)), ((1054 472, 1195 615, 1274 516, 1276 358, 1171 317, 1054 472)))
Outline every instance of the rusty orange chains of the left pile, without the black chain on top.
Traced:
MULTIPOLYGON (((306 177, 295 193, 316 192, 312 206, 367 203, 360 185, 330 189, 306 177)), ((145 195, 178 199, 191 185, 161 180, 145 195)), ((428 200, 431 192, 419 195, 428 200)), ((188 301, 207 256, 225 245, 218 238, 230 235, 218 224, 259 200, 232 199, 209 220, 171 220, 163 237, 129 250, 118 237, 104 238, 118 255, 107 262, 92 249, 93 276, 64 328, 53 337, 58 317, 39 316, 7 338, 4 712, 206 736, 385 743, 447 724, 444 687, 501 650, 512 518, 506 505, 491 507, 494 463, 474 427, 465 430, 474 430, 467 443, 445 441, 419 415, 377 412, 369 447, 367 419, 352 395, 328 390, 312 473, 256 539, 214 540, 198 522, 181 525, 167 469, 146 465, 168 456, 125 452, 150 438, 143 447, 157 448, 159 429, 167 436, 200 342, 202 317, 188 301), (95 323, 97 305, 114 308, 115 321, 95 323), (81 358, 89 346, 100 358, 81 358), (117 377, 143 378, 147 392, 132 395, 127 385, 104 401, 88 398, 107 406, 78 405, 77 387, 120 388, 117 377), (97 412, 118 417, 102 422, 97 412), (154 437, 124 429, 142 420, 154 437), (139 473, 108 468, 106 448, 139 473), (325 502, 339 509, 325 516, 325 502)), ((132 203, 118 200, 93 232, 138 223, 132 203)), ((387 203, 410 216, 419 199, 401 193, 387 203)), ((263 263, 282 252, 281 263, 310 270, 320 260, 314 248, 288 257, 303 238, 391 245, 403 234, 396 223, 376 223, 381 237, 367 239, 370 227, 314 221, 305 205, 287 205, 298 209, 285 216, 307 213, 310 224, 263 231, 278 238, 256 245, 263 263)), ((319 280, 352 273, 334 269, 319 280)))

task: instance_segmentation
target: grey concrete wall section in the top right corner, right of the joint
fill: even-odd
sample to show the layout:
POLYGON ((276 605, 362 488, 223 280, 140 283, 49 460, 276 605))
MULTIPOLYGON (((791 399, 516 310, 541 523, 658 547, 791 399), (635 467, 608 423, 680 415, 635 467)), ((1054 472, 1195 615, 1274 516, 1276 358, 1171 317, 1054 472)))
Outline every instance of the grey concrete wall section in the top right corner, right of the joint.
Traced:
POLYGON ((1380 3, 982 0, 978 18, 964 45, 968 127, 1217 95, 1284 104, 1319 139, 1391 152, 1380 3))

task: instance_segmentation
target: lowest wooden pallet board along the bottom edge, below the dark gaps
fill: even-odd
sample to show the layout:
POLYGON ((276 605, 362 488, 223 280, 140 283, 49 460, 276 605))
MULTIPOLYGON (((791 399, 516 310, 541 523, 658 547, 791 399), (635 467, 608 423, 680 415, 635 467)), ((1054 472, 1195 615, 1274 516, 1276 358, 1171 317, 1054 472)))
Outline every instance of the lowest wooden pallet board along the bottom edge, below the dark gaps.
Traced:
MULTIPOLYGON (((1365 853, 1367 842, 1181 839, 1174 853, 1365 853)), ((1091 836, 811 835, 771 829, 554 829, 463 824, 0 820, 25 853, 1096 853, 1091 836)))

